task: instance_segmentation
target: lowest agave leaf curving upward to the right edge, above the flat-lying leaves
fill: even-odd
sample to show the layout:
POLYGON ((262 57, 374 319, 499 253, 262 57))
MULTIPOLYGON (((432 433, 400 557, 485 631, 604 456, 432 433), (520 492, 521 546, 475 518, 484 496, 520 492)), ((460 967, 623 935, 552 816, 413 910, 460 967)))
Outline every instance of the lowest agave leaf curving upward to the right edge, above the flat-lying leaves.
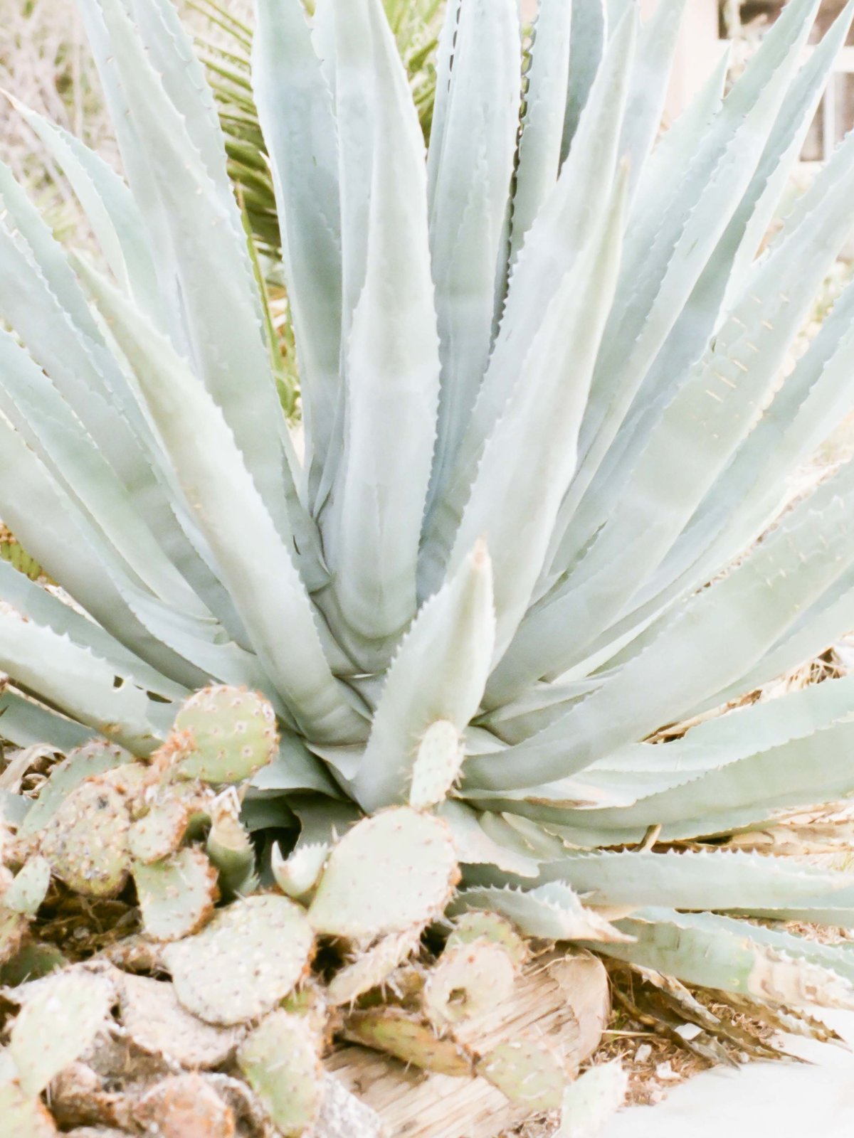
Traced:
POLYGON ((851 495, 854 469, 843 468, 728 577, 671 613, 637 654, 565 716, 500 754, 469 759, 467 786, 525 786, 567 777, 616 747, 646 737, 668 715, 688 714, 744 675, 794 624, 805 601, 820 596, 851 563, 851 495), (829 556, 834 547, 837 555, 829 556), (674 654, 674 645, 687 642, 691 657, 674 654))

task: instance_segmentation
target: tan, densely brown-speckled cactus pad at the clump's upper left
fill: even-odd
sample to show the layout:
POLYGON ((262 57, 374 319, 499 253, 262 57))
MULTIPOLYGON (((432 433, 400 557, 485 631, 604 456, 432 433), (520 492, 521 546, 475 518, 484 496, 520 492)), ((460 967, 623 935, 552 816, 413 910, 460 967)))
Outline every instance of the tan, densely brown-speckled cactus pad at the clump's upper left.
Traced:
POLYGON ((72 791, 52 815, 41 852, 69 889, 113 897, 128 879, 130 825, 124 795, 95 778, 72 791))

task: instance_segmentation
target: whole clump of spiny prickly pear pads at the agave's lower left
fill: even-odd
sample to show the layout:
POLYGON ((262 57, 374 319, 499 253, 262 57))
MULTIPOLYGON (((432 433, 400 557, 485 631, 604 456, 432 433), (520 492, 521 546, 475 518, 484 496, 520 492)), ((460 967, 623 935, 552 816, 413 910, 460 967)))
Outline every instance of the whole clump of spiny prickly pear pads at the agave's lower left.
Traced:
POLYGON ((332 823, 328 841, 303 834, 288 852, 256 849, 241 801, 278 742, 262 696, 205 688, 145 761, 100 742, 71 751, 6 828, 2 1138, 67 1123, 166 1138, 329 1133, 322 1112, 348 1096, 321 1064, 334 1039, 481 1075, 532 1113, 561 1105, 572 1058, 484 1028, 529 949, 476 897, 454 900, 458 850, 429 813, 453 772, 440 761, 413 780, 418 809, 338 819, 342 833, 332 823), (74 938, 61 949, 46 939, 60 897, 95 914, 124 899, 124 934, 71 958, 74 938), (140 1055, 149 1069, 129 1080, 140 1055))

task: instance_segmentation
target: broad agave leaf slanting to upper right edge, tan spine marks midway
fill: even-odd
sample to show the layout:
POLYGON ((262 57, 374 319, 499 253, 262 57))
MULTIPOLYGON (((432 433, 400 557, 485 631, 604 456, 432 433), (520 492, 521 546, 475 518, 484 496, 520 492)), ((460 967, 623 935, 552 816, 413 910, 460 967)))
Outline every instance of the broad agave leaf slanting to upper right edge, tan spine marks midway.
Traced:
MULTIPOLYGON (((544 629, 573 629, 572 641, 564 638, 564 654, 547 674, 561 673, 584 658, 586 646, 630 601, 635 574, 647 577, 660 563, 749 431, 851 229, 852 189, 854 139, 821 172, 786 239, 718 328, 714 347, 664 409, 609 518, 555 599, 547 597, 529 617, 527 640, 520 637, 519 644, 536 642, 537 667, 549 658, 544 629)), ((509 667, 517 683, 524 683, 519 661, 509 667)))

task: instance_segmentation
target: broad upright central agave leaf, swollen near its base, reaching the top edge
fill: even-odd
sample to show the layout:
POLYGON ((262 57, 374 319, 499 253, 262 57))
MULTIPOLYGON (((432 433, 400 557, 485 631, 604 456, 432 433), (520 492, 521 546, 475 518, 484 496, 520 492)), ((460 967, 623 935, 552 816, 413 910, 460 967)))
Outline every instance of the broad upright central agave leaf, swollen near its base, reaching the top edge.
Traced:
POLYGON ((435 439, 440 360, 427 187, 418 118, 379 0, 342 0, 335 33, 344 450, 322 528, 345 625, 381 644, 416 613, 435 439))

